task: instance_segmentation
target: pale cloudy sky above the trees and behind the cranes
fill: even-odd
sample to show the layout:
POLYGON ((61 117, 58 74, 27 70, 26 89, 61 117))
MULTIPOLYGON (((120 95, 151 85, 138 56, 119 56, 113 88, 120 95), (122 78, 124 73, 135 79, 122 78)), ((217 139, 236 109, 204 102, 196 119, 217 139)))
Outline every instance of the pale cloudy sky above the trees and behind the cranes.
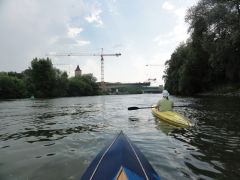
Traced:
POLYGON ((34 57, 106 82, 163 84, 164 63, 188 37, 186 10, 197 0, 0 0, 0 71, 21 72, 34 57), (147 66, 148 65, 148 66, 147 66))

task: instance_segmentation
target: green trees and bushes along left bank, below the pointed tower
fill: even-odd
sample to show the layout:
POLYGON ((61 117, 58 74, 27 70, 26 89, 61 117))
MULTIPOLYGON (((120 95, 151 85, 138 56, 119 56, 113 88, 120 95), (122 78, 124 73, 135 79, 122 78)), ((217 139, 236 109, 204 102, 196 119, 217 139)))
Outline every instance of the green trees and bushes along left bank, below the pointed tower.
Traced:
POLYGON ((0 99, 91 96, 100 93, 92 74, 68 77, 53 67, 49 58, 34 58, 31 67, 21 73, 0 72, 0 99))

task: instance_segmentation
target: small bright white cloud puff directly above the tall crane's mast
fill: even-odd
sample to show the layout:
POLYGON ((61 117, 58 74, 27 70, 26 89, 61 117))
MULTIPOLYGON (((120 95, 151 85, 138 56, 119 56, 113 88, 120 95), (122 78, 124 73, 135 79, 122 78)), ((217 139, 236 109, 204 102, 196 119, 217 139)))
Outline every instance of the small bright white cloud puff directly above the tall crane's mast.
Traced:
POLYGON ((85 17, 85 20, 89 23, 96 23, 97 26, 102 26, 103 21, 101 18, 102 10, 97 7, 93 7, 90 15, 85 17))

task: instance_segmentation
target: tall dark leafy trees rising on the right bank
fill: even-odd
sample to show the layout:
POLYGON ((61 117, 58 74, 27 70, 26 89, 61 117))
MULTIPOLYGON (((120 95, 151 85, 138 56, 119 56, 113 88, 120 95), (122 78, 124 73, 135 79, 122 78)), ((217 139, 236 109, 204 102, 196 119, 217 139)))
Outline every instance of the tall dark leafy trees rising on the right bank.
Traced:
POLYGON ((190 38, 166 61, 165 88, 193 95, 240 82, 240 1, 200 0, 188 9, 190 38))

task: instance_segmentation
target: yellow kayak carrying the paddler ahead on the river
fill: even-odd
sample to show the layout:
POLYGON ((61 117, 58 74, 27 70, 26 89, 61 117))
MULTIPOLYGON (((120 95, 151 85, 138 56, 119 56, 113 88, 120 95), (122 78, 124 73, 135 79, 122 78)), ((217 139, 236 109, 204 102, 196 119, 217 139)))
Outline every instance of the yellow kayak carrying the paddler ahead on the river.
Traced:
POLYGON ((183 127, 183 128, 193 126, 190 120, 188 120, 181 114, 174 111, 160 112, 156 108, 152 108, 152 114, 157 118, 159 118, 160 120, 174 126, 183 127))

